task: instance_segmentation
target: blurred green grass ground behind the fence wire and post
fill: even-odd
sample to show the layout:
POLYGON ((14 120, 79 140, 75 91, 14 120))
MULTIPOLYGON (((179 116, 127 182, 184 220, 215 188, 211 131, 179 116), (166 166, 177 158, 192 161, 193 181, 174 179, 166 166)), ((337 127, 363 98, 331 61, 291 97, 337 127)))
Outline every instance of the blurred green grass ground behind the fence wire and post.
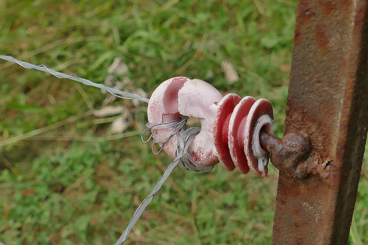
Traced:
MULTIPOLYGON (((98 83, 121 56, 127 76, 148 93, 186 76, 265 97, 282 136, 295 7, 295 0, 0 0, 0 53, 98 83), (228 84, 223 60, 240 81, 228 84)), ((171 162, 141 142, 144 106, 134 126, 114 136, 116 117, 91 115, 106 97, 99 89, 3 61, 0 81, 0 241, 113 244, 171 162)), ((269 168, 262 179, 221 166, 174 170, 126 244, 269 244, 278 176, 269 168)), ((350 244, 368 242, 367 177, 365 156, 350 244)))

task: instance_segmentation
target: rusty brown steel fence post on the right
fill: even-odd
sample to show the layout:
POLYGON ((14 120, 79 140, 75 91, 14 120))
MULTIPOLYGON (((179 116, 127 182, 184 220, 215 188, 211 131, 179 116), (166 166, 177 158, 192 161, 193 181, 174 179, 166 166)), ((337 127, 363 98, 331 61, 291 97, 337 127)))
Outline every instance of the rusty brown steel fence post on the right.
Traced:
POLYGON ((272 244, 347 244, 368 128, 367 14, 367 0, 298 1, 284 135, 308 136, 311 153, 280 170, 272 244))

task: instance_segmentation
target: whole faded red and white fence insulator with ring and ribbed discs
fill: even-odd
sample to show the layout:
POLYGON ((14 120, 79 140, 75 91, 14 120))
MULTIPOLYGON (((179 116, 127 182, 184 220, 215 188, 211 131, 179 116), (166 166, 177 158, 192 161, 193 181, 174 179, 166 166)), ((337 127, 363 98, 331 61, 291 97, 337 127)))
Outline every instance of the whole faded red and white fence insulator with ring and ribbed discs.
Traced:
MULTIPOLYGON (((258 177, 268 173, 269 153, 262 149, 259 134, 273 134, 273 110, 266 99, 251 96, 241 99, 230 93, 222 96, 212 85, 199 79, 175 77, 164 81, 152 93, 148 104, 151 125, 179 120, 181 115, 199 118, 201 131, 195 136, 188 152, 202 166, 217 163, 229 171, 251 170, 258 177)), ((169 136, 173 128, 156 129, 155 139, 169 136)), ((162 145, 175 157, 175 135, 162 145)))

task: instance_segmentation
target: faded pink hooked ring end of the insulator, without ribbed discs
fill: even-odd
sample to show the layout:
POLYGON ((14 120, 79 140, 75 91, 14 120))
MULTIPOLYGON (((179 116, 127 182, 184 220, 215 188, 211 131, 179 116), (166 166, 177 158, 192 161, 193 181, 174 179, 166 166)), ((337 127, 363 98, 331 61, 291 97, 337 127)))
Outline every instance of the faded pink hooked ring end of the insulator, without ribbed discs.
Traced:
MULTIPOLYGON (((212 85, 199 79, 176 77, 164 81, 152 93, 148 103, 148 121, 151 125, 179 119, 180 115, 199 118, 201 131, 189 146, 189 153, 203 166, 219 162, 213 143, 213 124, 217 103, 222 95, 212 85)), ((157 129, 153 137, 169 136, 173 128, 157 129)), ((163 144, 163 150, 175 157, 176 137, 163 144)))

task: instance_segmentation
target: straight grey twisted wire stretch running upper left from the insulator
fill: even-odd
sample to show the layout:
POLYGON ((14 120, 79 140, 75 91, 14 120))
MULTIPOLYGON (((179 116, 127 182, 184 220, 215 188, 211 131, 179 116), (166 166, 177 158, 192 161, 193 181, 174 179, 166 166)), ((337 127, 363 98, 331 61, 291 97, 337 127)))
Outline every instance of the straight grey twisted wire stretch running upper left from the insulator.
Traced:
POLYGON ((128 99, 128 100, 137 99, 137 100, 141 100, 143 102, 147 102, 147 103, 149 102, 149 99, 141 97, 141 96, 136 95, 134 93, 126 93, 126 92, 123 92, 123 91, 120 91, 120 90, 117 90, 117 89, 114 89, 114 88, 107 87, 104 84, 96 84, 96 83, 94 83, 92 81, 89 81, 87 79, 80 78, 75 74, 67 75, 67 74, 64 74, 62 72, 54 71, 50 68, 47 68, 45 65, 33 65, 33 64, 25 62, 25 61, 17 60, 16 58, 14 58, 12 56, 6 56, 6 55, 2 55, 2 54, 0 54, 0 58, 3 59, 3 60, 7 60, 7 61, 10 61, 10 62, 16 63, 18 65, 21 65, 22 67, 27 68, 27 69, 36 69, 36 70, 39 70, 39 71, 50 73, 51 75, 54 75, 57 78, 67 78, 67 79, 71 79, 73 81, 81 82, 82 84, 85 84, 85 85, 88 85, 88 86, 93 86, 93 87, 96 87, 96 88, 103 89, 106 92, 109 92, 112 95, 114 95, 116 97, 119 97, 119 98, 122 98, 122 99, 128 99))

